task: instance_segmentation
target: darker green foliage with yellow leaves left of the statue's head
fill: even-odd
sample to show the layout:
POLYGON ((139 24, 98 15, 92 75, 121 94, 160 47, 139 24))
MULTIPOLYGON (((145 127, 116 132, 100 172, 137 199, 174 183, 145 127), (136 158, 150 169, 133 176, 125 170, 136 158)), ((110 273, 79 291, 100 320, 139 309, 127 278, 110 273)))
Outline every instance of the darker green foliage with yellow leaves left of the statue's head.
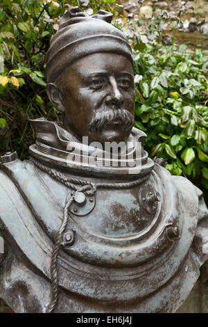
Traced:
MULTIPOLYGON (((114 12, 114 2, 90 1, 90 14, 99 8, 114 12)), ((44 116, 60 120, 60 113, 46 96, 44 61, 51 36, 58 30, 58 17, 71 5, 77 6, 79 1, 2 0, 0 3, 1 154, 17 150, 20 159, 28 157, 28 145, 33 143, 29 119, 44 116)))

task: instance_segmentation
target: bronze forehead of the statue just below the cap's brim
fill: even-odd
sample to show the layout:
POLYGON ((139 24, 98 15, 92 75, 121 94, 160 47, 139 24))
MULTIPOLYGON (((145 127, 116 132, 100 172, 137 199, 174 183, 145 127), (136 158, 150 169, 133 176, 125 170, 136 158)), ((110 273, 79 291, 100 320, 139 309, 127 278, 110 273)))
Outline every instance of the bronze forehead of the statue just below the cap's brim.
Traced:
POLYGON ((133 75, 132 63, 121 54, 97 53, 80 58, 67 71, 80 77, 103 72, 106 74, 129 73, 133 75))

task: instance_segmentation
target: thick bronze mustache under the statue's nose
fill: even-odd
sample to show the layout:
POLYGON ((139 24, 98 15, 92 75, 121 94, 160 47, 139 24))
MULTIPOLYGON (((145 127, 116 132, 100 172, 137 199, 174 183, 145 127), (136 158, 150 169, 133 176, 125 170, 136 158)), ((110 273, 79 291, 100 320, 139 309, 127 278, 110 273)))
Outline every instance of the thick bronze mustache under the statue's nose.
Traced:
POLYGON ((121 121, 121 129, 128 130, 133 127, 135 118, 125 108, 119 109, 103 108, 97 111, 90 120, 88 128, 91 133, 101 133, 103 129, 112 125, 116 120, 121 121))

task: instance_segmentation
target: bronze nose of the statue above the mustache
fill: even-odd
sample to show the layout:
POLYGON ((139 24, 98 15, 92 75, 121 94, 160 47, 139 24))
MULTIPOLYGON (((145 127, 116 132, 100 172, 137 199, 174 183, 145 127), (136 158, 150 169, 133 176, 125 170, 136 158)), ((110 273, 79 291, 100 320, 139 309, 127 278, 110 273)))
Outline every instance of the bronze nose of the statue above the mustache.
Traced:
POLYGON ((105 104, 107 106, 121 106, 123 104, 123 95, 121 94, 117 81, 114 77, 109 77, 110 81, 110 93, 105 98, 105 104))

